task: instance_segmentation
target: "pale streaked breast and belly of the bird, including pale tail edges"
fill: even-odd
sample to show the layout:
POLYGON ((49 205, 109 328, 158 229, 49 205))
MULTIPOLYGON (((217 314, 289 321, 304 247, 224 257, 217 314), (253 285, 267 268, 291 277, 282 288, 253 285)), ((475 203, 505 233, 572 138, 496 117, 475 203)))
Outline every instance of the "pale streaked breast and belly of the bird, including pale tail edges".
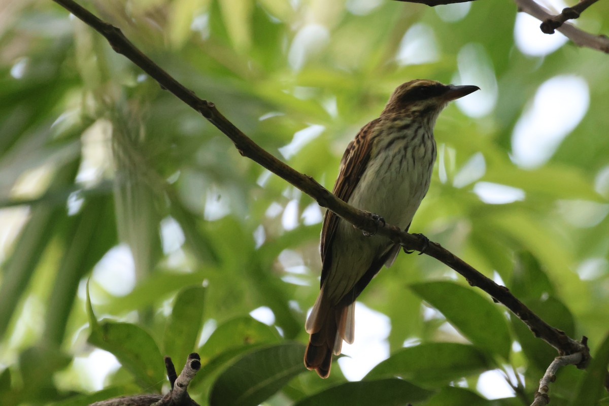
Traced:
MULTIPOLYGON (((368 161, 367 169, 347 202, 356 208, 381 215, 389 224, 402 229, 409 226, 428 191, 435 161, 435 142, 431 131, 420 133, 414 138, 418 142, 413 140, 412 134, 392 142, 392 138, 375 134, 371 156, 376 155, 376 149, 387 151, 377 155, 384 158, 371 158, 368 161)), ((306 330, 309 333, 318 330, 318 322, 322 320, 318 320, 322 298, 332 306, 339 304, 370 270, 373 262, 392 251, 385 261, 389 267, 399 250, 400 247, 386 237, 365 236, 350 223, 339 220, 331 240, 330 256, 325 259, 330 265, 328 273, 307 320, 306 330)), ((343 317, 337 320, 338 334, 333 349, 336 355, 340 354, 343 340, 353 343, 354 304, 345 307, 343 317)))

